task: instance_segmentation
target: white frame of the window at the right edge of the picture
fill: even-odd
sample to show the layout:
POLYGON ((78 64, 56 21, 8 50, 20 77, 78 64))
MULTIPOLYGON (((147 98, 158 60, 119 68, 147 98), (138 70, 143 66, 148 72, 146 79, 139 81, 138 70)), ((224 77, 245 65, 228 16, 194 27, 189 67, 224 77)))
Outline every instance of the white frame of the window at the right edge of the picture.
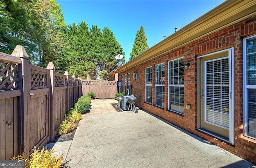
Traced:
POLYGON ((244 136, 250 137, 252 139, 256 139, 256 135, 252 135, 248 133, 248 89, 256 89, 256 85, 247 85, 247 52, 246 52, 246 47, 247 47, 247 39, 256 37, 256 35, 252 35, 249 37, 245 37, 243 40, 243 51, 244 51, 244 136))

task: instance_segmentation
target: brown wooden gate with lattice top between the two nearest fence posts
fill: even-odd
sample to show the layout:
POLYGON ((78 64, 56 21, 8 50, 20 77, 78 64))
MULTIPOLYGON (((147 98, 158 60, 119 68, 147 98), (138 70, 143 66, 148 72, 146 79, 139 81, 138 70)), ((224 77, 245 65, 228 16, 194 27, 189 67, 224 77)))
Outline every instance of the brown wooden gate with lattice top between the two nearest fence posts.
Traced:
POLYGON ((49 73, 50 70, 30 64, 31 83, 28 96, 27 136, 30 153, 35 146, 43 146, 49 141, 49 73))

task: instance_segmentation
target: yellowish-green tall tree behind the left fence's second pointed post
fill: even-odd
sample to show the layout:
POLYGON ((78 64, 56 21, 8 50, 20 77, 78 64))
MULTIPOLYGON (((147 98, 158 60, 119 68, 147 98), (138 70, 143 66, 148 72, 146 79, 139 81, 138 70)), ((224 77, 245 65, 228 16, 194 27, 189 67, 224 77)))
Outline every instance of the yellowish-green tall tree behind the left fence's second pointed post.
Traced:
POLYGON ((66 47, 64 41, 64 22, 62 9, 55 0, 37 0, 30 14, 40 25, 34 41, 38 41, 38 62, 46 67, 53 62, 57 70, 62 69, 62 50, 66 47))

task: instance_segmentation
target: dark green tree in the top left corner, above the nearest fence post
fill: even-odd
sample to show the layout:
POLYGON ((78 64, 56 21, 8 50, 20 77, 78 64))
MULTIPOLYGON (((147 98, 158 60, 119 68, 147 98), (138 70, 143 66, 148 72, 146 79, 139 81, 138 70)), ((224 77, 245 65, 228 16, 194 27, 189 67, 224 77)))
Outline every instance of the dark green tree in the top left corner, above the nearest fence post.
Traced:
POLYGON ((11 54, 16 45, 23 45, 28 53, 35 47, 28 40, 28 27, 33 27, 28 10, 30 3, 22 0, 0 1, 0 51, 11 54))

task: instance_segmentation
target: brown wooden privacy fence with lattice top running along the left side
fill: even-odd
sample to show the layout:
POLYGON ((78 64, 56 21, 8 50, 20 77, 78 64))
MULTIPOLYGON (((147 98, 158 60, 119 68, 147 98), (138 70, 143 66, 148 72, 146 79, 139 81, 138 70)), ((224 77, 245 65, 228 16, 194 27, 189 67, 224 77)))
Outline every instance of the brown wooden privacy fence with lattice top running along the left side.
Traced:
POLYGON ((52 141, 58 125, 82 94, 81 81, 68 72, 29 64, 23 46, 0 52, 0 160, 52 141))

